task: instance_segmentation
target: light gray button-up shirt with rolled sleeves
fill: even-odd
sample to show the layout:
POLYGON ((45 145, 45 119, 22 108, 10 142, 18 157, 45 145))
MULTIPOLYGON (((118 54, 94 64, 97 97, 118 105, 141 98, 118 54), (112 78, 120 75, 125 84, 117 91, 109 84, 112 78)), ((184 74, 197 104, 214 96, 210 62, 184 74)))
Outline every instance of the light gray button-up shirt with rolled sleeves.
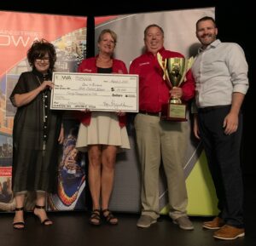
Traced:
POLYGON ((199 49, 192 66, 196 106, 230 105, 232 93, 247 93, 247 71, 245 54, 237 43, 217 39, 207 49, 199 49))

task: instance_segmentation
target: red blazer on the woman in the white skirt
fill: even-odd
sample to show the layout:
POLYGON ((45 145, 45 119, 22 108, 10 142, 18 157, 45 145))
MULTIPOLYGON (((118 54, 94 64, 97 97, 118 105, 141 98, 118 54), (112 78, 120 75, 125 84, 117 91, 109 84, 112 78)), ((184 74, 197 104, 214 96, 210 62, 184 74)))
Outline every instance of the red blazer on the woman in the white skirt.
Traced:
MULTIPOLYGON (((80 66, 78 72, 85 72, 85 73, 96 73, 97 67, 96 67, 96 57, 91 57, 84 59, 80 66)), ((113 73, 123 73, 127 74, 127 69, 125 66, 125 63, 122 60, 113 59, 113 67, 112 67, 113 73)), ((79 121, 83 123, 85 126, 90 125, 90 118, 91 118, 91 112, 83 113, 79 112, 77 117, 79 118, 79 121)), ((126 124, 126 116, 119 116, 119 126, 122 128, 126 124)))

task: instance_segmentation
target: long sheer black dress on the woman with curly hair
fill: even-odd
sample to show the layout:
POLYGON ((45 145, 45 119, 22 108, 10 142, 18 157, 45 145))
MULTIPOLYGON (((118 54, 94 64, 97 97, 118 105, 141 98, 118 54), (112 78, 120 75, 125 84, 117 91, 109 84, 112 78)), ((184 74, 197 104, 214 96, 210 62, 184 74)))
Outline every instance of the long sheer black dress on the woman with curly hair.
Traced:
MULTIPOLYGON (((21 73, 10 100, 15 105, 15 94, 32 91, 43 81, 43 74, 36 70, 21 73)), ((13 130, 13 192, 55 192, 61 112, 50 110, 49 102, 50 90, 46 89, 17 109, 13 130)))

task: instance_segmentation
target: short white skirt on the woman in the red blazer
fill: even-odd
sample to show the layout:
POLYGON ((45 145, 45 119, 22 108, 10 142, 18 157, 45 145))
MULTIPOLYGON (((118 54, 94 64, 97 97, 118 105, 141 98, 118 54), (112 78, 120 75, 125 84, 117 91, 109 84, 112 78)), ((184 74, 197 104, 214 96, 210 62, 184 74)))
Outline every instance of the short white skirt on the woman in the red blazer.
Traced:
POLYGON ((130 149, 130 142, 125 127, 120 128, 115 112, 91 112, 90 125, 80 123, 76 148, 87 152, 87 146, 108 145, 130 149))

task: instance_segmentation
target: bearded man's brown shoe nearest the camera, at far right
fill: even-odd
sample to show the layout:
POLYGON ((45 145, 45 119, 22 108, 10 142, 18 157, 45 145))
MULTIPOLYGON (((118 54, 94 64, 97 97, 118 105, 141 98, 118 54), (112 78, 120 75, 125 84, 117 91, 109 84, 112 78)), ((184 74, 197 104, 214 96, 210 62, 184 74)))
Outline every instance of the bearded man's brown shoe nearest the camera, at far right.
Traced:
POLYGON ((244 236, 244 229, 235 226, 224 225, 213 233, 213 237, 223 240, 233 240, 244 236))

